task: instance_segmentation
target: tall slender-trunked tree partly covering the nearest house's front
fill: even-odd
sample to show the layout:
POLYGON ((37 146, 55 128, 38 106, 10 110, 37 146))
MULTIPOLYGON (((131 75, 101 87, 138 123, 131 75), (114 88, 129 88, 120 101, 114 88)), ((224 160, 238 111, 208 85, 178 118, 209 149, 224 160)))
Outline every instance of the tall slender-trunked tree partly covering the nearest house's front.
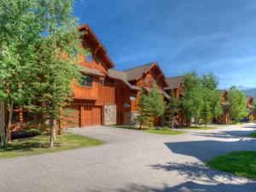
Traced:
POLYGON ((79 79, 79 55, 86 55, 81 47, 78 20, 72 15, 73 0, 40 0, 44 22, 44 38, 38 45, 37 62, 33 66, 34 79, 30 91, 30 108, 44 114, 49 125, 49 147, 54 147, 56 121, 62 108, 72 101, 72 85, 79 79))

